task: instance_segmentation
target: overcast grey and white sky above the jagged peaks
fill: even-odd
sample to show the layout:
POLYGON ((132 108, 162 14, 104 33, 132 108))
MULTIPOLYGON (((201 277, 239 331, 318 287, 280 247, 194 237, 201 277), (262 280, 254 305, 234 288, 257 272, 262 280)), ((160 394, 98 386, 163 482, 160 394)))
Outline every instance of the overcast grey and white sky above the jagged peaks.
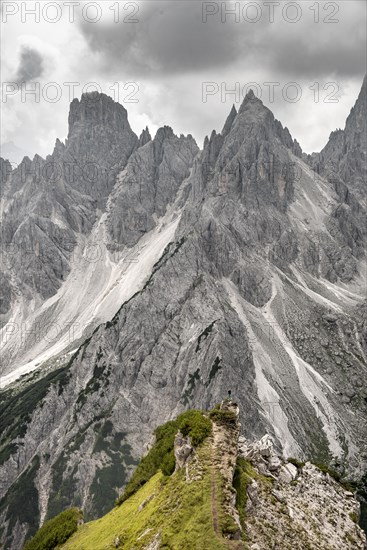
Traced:
POLYGON ((303 150, 318 151, 344 127, 366 72, 364 0, 3 1, 1 10, 1 142, 31 155, 65 140, 69 102, 84 87, 119 100, 137 134, 168 124, 202 147, 251 86, 303 150), (27 12, 36 4, 39 21, 27 12), (24 93, 32 89, 37 97, 24 93))

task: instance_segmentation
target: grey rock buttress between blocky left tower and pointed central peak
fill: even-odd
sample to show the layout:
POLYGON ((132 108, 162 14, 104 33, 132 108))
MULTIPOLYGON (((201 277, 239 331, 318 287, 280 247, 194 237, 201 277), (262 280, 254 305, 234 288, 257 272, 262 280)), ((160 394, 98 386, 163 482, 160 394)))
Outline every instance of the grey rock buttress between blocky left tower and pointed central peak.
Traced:
POLYGON ((153 140, 144 136, 144 146, 131 156, 111 194, 106 224, 111 246, 134 246, 155 226, 174 203, 199 151, 192 137, 177 137, 168 126, 153 140))

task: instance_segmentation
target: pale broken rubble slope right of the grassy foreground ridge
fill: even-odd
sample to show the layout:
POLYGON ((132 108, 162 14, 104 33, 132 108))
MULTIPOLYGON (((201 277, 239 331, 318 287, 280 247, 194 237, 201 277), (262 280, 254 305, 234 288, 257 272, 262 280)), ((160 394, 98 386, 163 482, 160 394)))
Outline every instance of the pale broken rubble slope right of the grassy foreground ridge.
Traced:
POLYGON ((268 435, 253 443, 240 438, 239 456, 272 480, 252 479, 247 487, 251 549, 265 550, 270 543, 284 550, 365 549, 366 536, 357 524, 360 505, 329 474, 310 462, 297 467, 278 456, 268 435), (274 458, 280 465, 276 470, 270 467, 274 458))

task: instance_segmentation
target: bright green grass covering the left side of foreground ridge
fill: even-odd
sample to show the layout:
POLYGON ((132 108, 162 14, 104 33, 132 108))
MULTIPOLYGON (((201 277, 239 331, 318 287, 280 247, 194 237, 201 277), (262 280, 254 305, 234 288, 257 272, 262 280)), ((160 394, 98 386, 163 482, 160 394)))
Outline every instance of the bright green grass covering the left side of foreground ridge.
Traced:
MULTIPOLYGON (((157 472, 121 506, 82 525, 62 550, 112 550, 116 536, 121 541, 120 549, 142 550, 156 534, 160 534, 161 550, 227 549, 227 540, 216 536, 213 529, 211 449, 206 441, 198 448, 197 456, 202 468, 200 480, 187 483, 183 470, 171 477, 157 472)), ((217 494, 220 495, 218 485, 217 494)), ((222 503, 218 504, 220 508, 222 503)), ((221 518, 221 528, 231 530, 233 526, 230 521, 227 525, 226 520, 221 518)))

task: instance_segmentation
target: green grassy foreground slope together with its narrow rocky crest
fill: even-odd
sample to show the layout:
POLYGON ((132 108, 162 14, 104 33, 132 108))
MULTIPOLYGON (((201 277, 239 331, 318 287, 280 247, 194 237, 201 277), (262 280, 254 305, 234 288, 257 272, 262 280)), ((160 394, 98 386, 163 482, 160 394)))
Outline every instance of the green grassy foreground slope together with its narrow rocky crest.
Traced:
POLYGON ((244 548, 229 538, 234 533, 240 538, 238 514, 230 506, 238 433, 235 424, 214 424, 213 433, 195 448, 178 433, 177 471, 166 480, 159 471, 99 524, 83 526, 65 549, 104 548, 116 536, 121 548, 244 548), (187 458, 180 458, 185 448, 187 458))

